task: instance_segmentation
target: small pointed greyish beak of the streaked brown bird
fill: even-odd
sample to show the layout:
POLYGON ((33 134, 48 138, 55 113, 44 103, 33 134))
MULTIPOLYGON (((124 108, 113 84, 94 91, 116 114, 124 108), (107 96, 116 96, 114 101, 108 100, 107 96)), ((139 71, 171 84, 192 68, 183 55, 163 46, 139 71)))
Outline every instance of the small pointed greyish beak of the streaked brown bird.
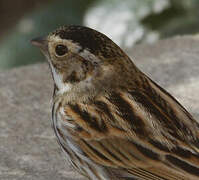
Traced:
POLYGON ((31 40, 31 44, 41 49, 43 53, 48 52, 48 40, 46 37, 37 37, 31 40))

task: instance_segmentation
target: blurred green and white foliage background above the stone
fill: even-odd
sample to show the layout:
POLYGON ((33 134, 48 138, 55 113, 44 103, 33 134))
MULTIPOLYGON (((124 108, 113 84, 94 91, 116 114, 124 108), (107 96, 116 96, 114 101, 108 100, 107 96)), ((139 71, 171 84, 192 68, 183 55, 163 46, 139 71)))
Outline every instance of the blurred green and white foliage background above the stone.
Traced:
POLYGON ((61 25, 97 29, 122 48, 199 32, 199 0, 0 0, 0 70, 44 60, 30 44, 61 25))

